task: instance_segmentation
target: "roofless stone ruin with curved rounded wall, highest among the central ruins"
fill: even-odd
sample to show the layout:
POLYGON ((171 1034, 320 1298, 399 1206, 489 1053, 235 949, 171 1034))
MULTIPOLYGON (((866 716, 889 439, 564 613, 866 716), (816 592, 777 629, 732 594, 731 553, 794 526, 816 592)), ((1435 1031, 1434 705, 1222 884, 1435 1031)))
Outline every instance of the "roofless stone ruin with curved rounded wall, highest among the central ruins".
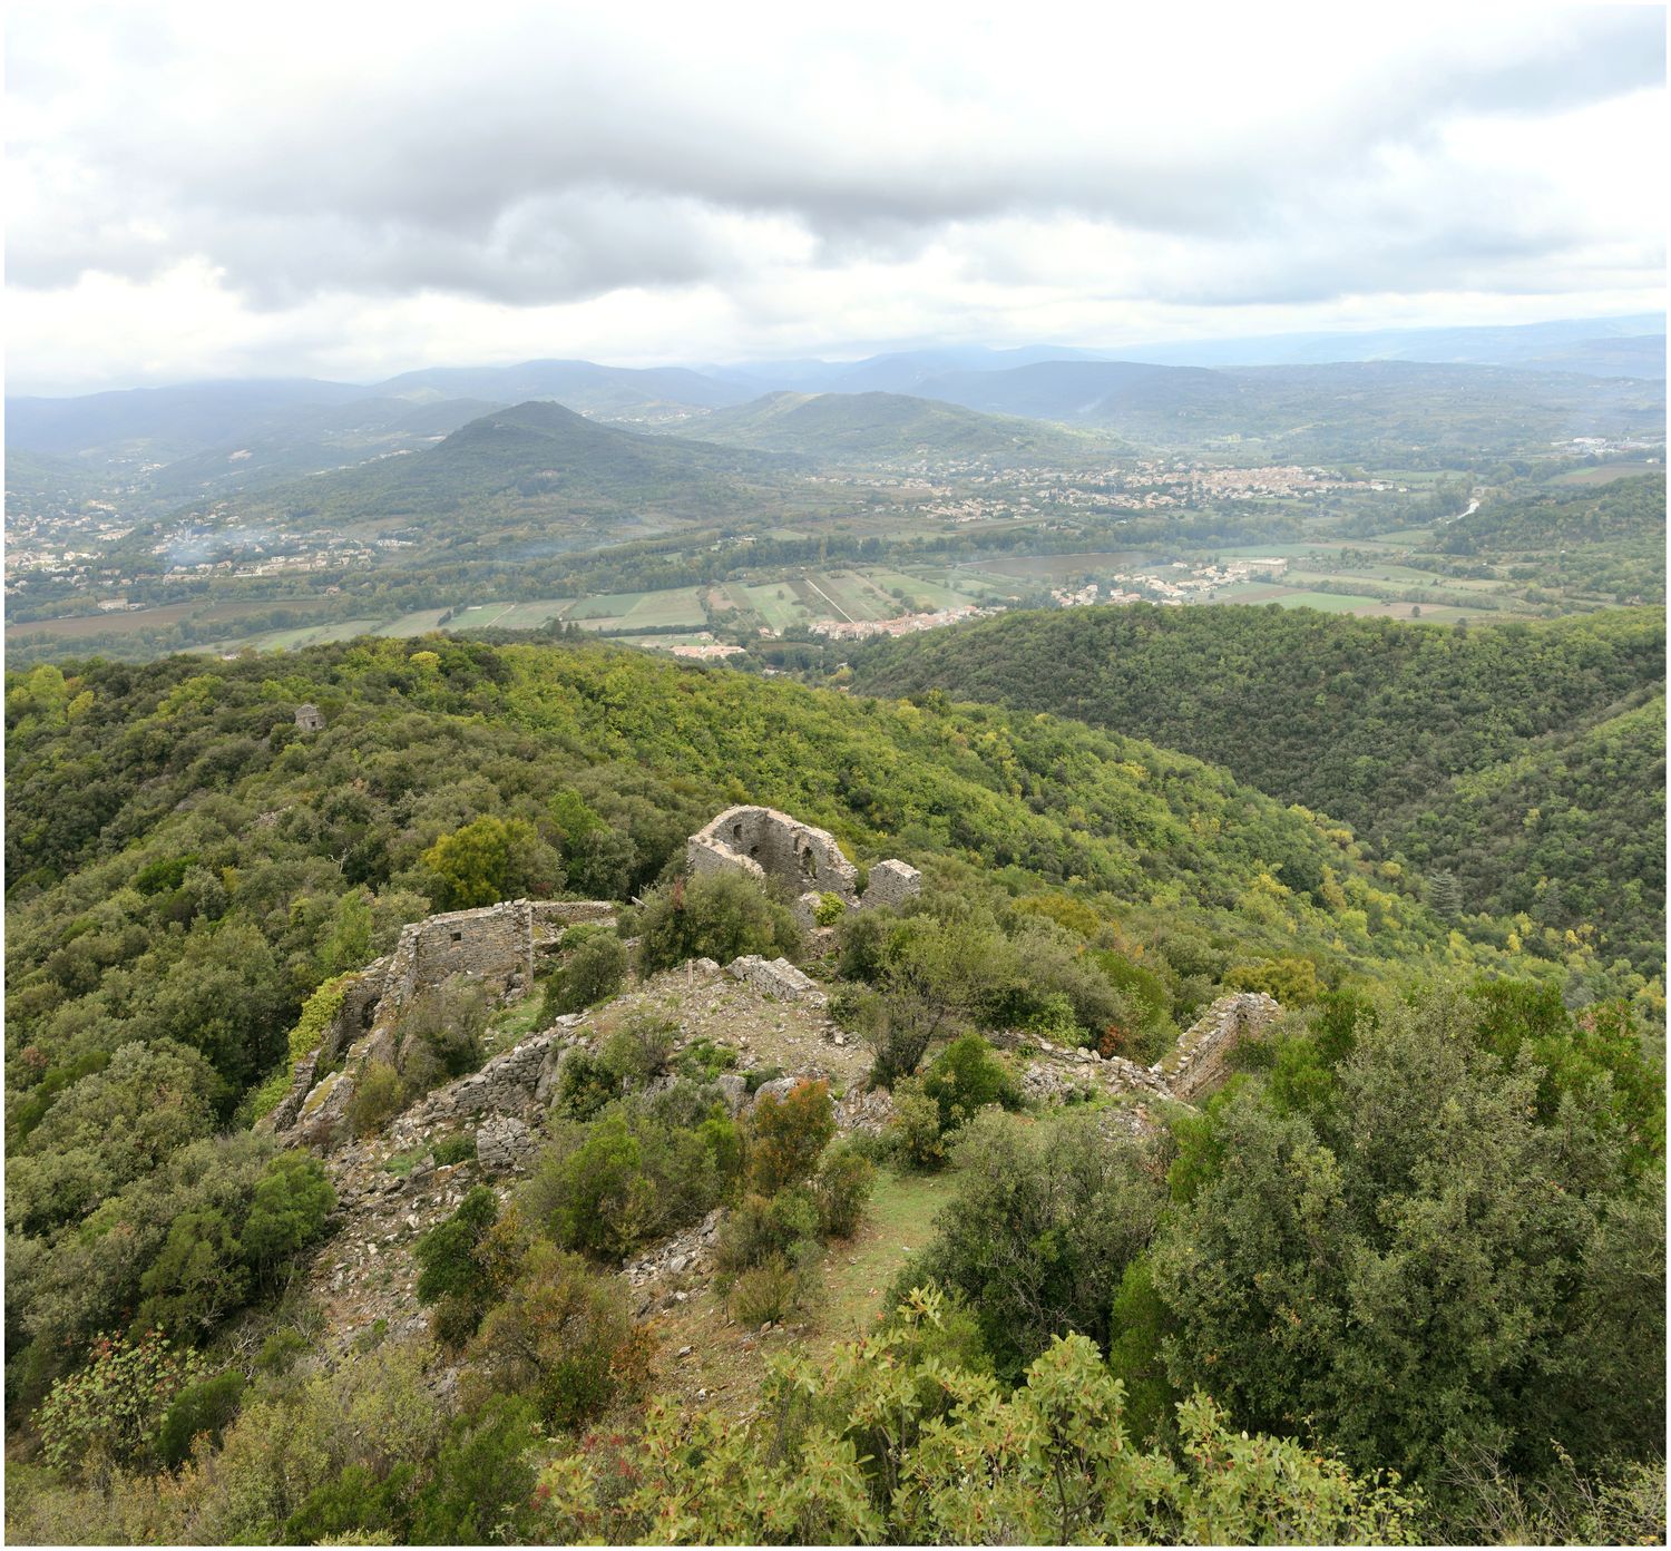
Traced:
POLYGON ((847 909, 866 909, 899 904, 922 887, 916 867, 886 861, 871 869, 861 898, 859 869, 842 856, 836 836, 775 807, 727 807, 685 841, 685 867, 692 876, 735 867, 769 887, 787 889, 802 926, 815 924, 825 894, 847 909))

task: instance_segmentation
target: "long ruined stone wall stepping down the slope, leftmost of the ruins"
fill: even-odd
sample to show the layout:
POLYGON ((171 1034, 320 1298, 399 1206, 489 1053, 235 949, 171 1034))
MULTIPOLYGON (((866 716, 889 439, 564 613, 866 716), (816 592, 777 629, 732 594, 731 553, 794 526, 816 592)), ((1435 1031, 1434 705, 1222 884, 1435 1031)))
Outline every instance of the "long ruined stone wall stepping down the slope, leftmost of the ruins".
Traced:
POLYGON ((291 1142, 328 1143, 359 1071, 374 1061, 394 1065, 401 1013, 419 991, 455 974, 486 984, 501 999, 531 991, 538 961, 585 921, 613 923, 615 906, 513 899, 403 926, 393 953, 349 976, 341 1008, 314 1053, 297 1061, 291 1091, 264 1128, 291 1142))

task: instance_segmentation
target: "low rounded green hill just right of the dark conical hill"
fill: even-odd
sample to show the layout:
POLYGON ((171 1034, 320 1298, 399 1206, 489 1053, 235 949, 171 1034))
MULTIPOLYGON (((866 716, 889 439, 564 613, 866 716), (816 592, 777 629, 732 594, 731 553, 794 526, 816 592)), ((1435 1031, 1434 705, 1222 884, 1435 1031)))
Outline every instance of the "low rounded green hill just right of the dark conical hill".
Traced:
POLYGON ((998 466, 1078 465, 1113 451, 1106 438, 901 393, 769 393, 749 404, 715 409, 692 430, 727 446, 829 463, 959 458, 998 466))

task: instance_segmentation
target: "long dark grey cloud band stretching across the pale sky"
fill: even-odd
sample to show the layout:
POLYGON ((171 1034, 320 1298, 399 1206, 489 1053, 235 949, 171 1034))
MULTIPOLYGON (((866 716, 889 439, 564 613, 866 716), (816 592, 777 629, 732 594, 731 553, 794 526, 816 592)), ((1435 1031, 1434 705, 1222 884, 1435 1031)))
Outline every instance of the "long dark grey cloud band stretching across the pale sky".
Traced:
MULTIPOLYGON (((1272 299, 1315 289, 1305 276, 1328 264, 1330 294, 1414 289, 1414 277, 1440 284, 1539 251, 1556 261, 1574 241, 1534 214, 1536 189, 1457 187, 1439 125, 1464 112, 1549 114, 1664 79, 1658 10, 1587 10, 1529 25, 1489 57, 1452 55, 1440 38, 1384 69, 1352 62, 1343 75, 1355 90, 1327 122, 1295 114, 1228 139, 1193 135, 1186 65, 1173 64, 1173 122, 1130 139, 1071 137, 1044 90, 1036 124, 989 120, 966 140, 906 125, 889 142, 886 102, 856 100, 856 115, 884 115, 877 149, 847 144, 792 80, 707 80, 647 60, 625 35, 566 43, 550 25, 485 28, 455 55, 388 79, 369 62, 363 80, 317 99, 274 107, 229 94, 209 132, 154 100, 157 82, 142 72, 132 97, 90 109, 53 147, 85 181, 50 191, 45 221, 13 227, 13 281, 65 284, 87 269, 142 279, 204 256, 257 306, 324 289, 536 304, 745 276, 762 261, 754 221, 787 222, 815 266, 839 267, 909 259, 981 222, 1073 216, 1196 241, 1206 256, 1228 241, 1270 244, 1290 271, 1275 272, 1273 257, 1272 299), (1387 147, 1429 164, 1425 207, 1400 207, 1365 174, 1387 147), (1342 211, 1365 224, 1399 214, 1415 231, 1392 246, 1369 232, 1350 241, 1330 231, 1342 211), (1400 262, 1414 267, 1400 274, 1400 262)), ((145 35, 142 47, 165 90, 167 60, 189 60, 179 53, 189 43, 145 35)), ((28 79, 40 53, 25 57, 25 95, 63 90, 62 72, 28 79)), ((1268 90, 1300 97, 1315 85, 1268 90)), ((30 150, 13 155, 27 162, 30 150)), ((1168 294, 1166 276, 1153 284, 1168 294)), ((1176 299, 1188 284, 1173 286, 1176 299)))

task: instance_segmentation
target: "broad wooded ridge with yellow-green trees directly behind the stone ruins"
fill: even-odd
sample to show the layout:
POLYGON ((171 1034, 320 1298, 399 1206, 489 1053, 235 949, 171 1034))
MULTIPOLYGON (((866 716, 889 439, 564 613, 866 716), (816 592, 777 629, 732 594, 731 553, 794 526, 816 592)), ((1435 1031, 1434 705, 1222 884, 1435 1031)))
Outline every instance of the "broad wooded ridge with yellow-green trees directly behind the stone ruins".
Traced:
POLYGON ((7 725, 8 1038, 33 1051, 7 1068, 13 1115, 135 1038, 201 1050, 236 1098, 326 974, 446 906, 431 849, 473 824, 498 847, 491 898, 628 899, 717 809, 767 802, 859 859, 1076 896, 1191 996, 1297 953, 1325 979, 1604 973, 1556 933, 1481 921, 1464 943, 1348 831, 1188 755, 600 643, 38 667, 12 679, 7 725), (294 727, 302 702, 323 734, 294 727))

